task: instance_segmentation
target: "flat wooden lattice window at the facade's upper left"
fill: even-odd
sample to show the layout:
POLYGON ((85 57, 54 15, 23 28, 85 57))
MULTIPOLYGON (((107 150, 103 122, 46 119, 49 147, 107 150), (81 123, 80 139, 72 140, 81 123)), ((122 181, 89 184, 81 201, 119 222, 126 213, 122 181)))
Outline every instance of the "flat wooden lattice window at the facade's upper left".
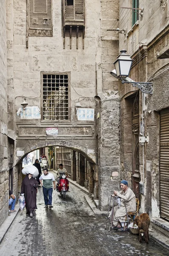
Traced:
POLYGON ((29 35, 30 30, 52 29, 52 0, 29 0, 29 35))

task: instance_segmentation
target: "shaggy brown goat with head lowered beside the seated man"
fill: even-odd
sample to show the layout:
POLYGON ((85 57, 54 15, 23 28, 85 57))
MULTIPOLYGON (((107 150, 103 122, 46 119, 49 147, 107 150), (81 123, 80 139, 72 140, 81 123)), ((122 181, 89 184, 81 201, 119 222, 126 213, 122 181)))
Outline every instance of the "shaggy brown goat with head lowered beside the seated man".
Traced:
POLYGON ((142 236, 145 236, 145 241, 149 243, 149 225, 150 218, 147 213, 142 213, 140 216, 136 216, 134 219, 134 224, 138 226, 139 230, 139 241, 142 242, 142 236))

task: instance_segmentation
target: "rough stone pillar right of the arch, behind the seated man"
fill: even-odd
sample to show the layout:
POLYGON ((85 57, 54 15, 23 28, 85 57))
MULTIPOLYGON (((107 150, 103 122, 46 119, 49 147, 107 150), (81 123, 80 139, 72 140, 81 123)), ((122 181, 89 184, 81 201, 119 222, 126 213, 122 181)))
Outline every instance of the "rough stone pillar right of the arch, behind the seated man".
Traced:
POLYGON ((107 210, 110 195, 120 186, 120 100, 117 94, 103 94, 99 122, 99 206, 107 210))

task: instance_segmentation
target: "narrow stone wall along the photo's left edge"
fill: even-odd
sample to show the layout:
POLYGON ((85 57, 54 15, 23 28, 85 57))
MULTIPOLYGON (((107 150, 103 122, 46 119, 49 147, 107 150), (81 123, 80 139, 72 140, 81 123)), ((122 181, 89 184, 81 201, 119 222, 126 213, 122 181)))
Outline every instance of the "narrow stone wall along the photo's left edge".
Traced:
POLYGON ((8 215, 6 1, 0 4, 0 225, 8 215))

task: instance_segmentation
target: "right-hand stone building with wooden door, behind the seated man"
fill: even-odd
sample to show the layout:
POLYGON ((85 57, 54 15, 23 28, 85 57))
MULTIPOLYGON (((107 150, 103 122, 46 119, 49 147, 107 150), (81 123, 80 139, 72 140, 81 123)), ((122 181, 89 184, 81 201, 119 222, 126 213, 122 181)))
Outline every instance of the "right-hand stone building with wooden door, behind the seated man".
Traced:
POLYGON ((119 49, 134 59, 129 77, 153 83, 150 95, 119 82, 120 173, 140 198, 140 213, 148 212, 152 222, 158 218, 158 225, 161 218, 169 220, 168 9, 168 1, 119 5, 119 49), (142 136, 147 139, 143 145, 142 136))

